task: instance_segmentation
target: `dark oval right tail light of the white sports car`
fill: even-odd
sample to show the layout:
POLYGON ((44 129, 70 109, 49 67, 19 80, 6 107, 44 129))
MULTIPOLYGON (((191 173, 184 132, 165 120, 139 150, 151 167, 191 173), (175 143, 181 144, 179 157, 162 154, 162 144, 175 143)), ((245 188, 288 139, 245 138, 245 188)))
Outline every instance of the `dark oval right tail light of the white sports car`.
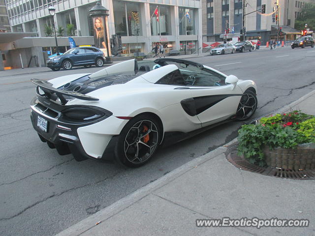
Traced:
POLYGON ((61 112, 61 121, 70 121, 75 123, 92 122, 100 118, 108 118, 111 112, 98 107, 71 107, 61 112))

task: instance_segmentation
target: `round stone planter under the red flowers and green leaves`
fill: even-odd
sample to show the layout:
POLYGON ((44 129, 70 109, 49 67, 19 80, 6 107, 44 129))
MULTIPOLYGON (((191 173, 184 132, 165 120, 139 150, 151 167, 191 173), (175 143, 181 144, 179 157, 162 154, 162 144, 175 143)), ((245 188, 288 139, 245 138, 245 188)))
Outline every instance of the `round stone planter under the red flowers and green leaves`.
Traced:
POLYGON ((268 166, 289 170, 315 169, 315 143, 300 144, 295 149, 263 148, 268 166))

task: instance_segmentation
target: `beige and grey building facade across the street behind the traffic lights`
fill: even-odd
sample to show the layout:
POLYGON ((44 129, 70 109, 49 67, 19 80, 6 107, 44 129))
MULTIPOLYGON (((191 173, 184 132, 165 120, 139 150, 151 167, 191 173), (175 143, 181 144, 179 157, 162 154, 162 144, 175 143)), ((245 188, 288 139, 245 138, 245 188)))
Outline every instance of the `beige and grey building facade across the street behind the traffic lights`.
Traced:
MULTIPOLYGON (((295 19, 300 14, 305 2, 313 1, 278 0, 280 9, 276 11, 277 0, 246 0, 244 27, 247 39, 260 39, 262 42, 266 42, 275 37, 272 29, 278 29, 278 24, 292 28, 289 30, 286 27, 288 33, 292 31, 292 34, 297 34, 293 29, 295 19), (262 5, 265 5, 265 14, 260 13, 262 5), (277 18, 280 20, 279 23, 277 18)), ((241 35, 243 0, 202 0, 202 6, 204 42, 223 41, 225 29, 230 30, 230 33, 227 34, 228 39, 241 35)))

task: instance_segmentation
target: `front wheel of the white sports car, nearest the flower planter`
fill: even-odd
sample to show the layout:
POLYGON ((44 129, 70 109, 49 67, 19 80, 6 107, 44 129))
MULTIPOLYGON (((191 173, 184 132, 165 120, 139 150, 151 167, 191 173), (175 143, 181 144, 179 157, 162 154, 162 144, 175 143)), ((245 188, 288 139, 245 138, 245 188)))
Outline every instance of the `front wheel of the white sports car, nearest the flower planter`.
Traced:
POLYGON ((246 120, 250 118, 257 109, 257 97, 251 90, 246 90, 240 99, 236 110, 236 120, 246 120))

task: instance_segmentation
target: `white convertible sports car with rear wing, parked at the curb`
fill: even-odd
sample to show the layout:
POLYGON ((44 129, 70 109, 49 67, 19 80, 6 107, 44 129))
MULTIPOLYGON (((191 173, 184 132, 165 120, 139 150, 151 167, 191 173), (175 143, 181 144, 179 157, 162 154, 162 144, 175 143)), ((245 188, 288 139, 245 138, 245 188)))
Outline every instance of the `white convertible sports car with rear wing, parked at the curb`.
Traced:
POLYGON ((167 138, 179 141, 245 120, 257 108, 253 81, 182 59, 139 65, 131 59, 93 74, 32 82, 31 119, 39 138, 77 161, 141 166, 167 138))

